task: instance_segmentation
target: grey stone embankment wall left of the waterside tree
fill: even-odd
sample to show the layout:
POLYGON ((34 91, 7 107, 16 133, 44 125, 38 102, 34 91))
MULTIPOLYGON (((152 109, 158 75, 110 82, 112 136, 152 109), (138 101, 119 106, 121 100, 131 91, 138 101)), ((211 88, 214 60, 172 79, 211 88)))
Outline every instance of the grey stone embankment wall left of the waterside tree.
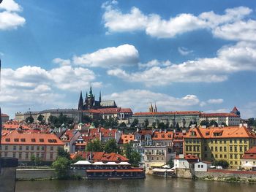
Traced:
POLYGON ((54 169, 17 169, 17 180, 40 180, 56 177, 54 169))

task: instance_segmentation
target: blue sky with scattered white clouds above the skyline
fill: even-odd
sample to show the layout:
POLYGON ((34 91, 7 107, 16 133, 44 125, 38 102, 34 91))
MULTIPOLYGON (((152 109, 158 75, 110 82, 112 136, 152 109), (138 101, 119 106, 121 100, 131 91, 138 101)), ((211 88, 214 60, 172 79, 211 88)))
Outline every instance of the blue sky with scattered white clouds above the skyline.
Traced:
POLYGON ((256 118, 256 1, 4 0, 4 113, 96 99, 256 118))

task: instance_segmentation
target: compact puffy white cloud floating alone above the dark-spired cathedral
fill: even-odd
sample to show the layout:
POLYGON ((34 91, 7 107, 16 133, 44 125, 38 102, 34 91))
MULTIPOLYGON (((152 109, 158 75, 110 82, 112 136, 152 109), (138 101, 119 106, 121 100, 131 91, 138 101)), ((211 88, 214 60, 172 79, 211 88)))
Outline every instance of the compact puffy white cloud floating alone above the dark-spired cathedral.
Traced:
POLYGON ((116 66, 131 66, 138 63, 139 53, 133 45, 120 45, 99 49, 73 58, 74 64, 91 67, 111 68, 116 66))

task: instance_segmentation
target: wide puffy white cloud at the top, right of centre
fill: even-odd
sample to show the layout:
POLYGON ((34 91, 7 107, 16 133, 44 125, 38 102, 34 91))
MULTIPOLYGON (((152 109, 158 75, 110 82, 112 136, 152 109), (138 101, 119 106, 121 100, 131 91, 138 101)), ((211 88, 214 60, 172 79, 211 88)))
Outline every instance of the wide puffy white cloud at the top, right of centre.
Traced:
MULTIPOLYGON (((215 30, 215 28, 222 25, 242 20, 252 12, 252 9, 248 7, 235 7, 233 9, 225 9, 224 15, 217 15, 213 11, 202 12, 198 16, 182 13, 165 20, 157 14, 145 15, 137 7, 132 7, 130 12, 123 13, 116 7, 116 4, 112 4, 109 1, 102 7, 105 9, 102 17, 105 28, 108 28, 110 33, 145 31, 151 37, 157 38, 172 38, 178 34, 203 28, 215 30)), ((217 37, 226 38, 225 35, 217 37)))

